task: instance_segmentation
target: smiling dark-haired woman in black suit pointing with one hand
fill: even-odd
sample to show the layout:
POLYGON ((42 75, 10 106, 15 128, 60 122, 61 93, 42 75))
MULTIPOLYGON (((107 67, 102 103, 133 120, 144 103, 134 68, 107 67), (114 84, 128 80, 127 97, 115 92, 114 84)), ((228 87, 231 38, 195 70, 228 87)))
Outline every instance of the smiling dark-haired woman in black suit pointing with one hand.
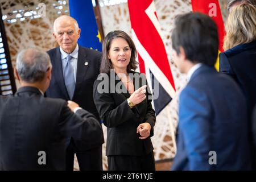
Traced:
POLYGON ((155 170, 155 111, 146 77, 137 68, 137 51, 130 36, 112 31, 102 47, 101 74, 94 82, 94 102, 108 127, 109 170, 155 170))

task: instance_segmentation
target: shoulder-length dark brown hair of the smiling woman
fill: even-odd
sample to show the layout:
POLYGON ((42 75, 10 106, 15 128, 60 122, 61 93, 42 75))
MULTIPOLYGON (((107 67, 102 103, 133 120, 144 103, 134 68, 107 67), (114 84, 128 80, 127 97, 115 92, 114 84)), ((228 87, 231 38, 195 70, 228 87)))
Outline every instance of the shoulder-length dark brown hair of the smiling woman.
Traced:
POLYGON ((138 62, 136 61, 137 57, 137 50, 133 43, 133 40, 131 40, 130 36, 126 34, 126 32, 121 30, 115 30, 112 32, 109 32, 108 35, 104 38, 103 44, 102 44, 102 60, 101 60, 101 73, 108 73, 110 72, 110 69, 113 68, 111 61, 108 58, 109 49, 112 43, 112 40, 115 38, 123 38, 128 43, 129 47, 131 48, 131 60, 130 63, 127 65, 127 72, 131 71, 131 69, 136 69, 138 62))

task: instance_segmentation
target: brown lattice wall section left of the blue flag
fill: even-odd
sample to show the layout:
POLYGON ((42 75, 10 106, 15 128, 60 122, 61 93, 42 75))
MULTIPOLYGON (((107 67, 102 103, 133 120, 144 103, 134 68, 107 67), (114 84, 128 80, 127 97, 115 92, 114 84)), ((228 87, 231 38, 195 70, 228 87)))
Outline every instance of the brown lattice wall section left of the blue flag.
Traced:
MULTIPOLYGON (((58 16, 69 14, 68 1, 44 0, 46 16, 39 17, 39 3, 42 1, 1 0, 3 22, 13 68, 15 67, 16 55, 22 49, 40 47, 47 51, 55 47, 52 24, 58 16)), ((19 87, 18 82, 16 84, 19 87)))

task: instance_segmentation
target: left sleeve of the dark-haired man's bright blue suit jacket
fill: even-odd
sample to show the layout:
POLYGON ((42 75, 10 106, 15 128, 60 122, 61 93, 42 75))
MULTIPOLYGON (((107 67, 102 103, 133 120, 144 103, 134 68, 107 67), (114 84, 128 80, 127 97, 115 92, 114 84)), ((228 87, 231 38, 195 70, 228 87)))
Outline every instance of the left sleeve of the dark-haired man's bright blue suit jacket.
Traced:
MULTIPOLYGON (((204 92, 185 88, 180 94, 179 131, 184 136, 189 170, 209 170, 210 164, 210 113, 211 108, 204 92)), ((178 140, 179 142, 179 140, 178 140)))

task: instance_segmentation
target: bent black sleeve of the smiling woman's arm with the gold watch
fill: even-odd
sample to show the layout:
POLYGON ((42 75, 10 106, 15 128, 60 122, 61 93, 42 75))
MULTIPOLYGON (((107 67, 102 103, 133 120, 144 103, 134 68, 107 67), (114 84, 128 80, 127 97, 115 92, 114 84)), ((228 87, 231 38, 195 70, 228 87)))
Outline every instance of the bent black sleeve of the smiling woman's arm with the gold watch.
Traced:
POLYGON ((127 101, 125 100, 116 106, 111 93, 100 93, 98 91, 100 82, 100 80, 94 82, 93 98, 104 125, 106 127, 115 127, 124 122, 131 121, 135 117, 135 113, 130 109, 127 101))

